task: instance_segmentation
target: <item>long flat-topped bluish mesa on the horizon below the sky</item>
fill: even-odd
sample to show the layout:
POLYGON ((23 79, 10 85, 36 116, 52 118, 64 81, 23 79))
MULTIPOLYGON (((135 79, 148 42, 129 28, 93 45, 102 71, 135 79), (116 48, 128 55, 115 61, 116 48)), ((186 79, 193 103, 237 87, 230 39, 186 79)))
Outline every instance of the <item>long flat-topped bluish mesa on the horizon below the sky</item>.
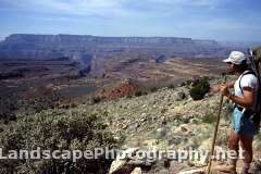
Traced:
POLYGON ((10 35, 0 42, 0 59, 70 59, 121 49, 176 55, 221 55, 224 50, 214 40, 177 37, 100 37, 90 35, 10 35))

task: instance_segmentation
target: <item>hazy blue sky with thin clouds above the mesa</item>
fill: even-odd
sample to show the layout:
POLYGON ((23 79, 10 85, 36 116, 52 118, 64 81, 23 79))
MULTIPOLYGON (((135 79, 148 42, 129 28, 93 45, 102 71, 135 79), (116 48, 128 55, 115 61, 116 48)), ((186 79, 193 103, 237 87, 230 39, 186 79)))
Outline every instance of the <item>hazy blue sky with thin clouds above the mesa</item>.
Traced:
POLYGON ((10 34, 261 41, 260 0, 0 0, 10 34))

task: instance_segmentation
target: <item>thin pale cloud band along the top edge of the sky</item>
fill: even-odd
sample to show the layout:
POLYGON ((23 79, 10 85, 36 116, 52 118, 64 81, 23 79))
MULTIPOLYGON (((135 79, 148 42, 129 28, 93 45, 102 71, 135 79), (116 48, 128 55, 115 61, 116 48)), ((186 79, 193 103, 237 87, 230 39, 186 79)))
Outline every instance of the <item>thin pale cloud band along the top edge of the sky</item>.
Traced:
MULTIPOLYGON (((223 0, 222 2, 224 3, 223 0)), ((1 8, 54 14, 126 16, 182 8, 215 8, 219 0, 0 0, 1 8)))

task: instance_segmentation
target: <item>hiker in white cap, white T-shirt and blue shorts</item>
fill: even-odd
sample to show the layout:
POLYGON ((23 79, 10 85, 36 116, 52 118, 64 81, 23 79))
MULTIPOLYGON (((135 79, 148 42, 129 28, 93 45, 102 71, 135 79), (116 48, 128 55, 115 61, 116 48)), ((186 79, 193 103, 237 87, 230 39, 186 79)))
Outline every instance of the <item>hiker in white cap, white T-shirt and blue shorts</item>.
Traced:
MULTIPOLYGON (((250 119, 254 114, 259 87, 258 78, 248 69, 247 58, 243 52, 232 51, 229 57, 223 60, 223 62, 228 64, 231 73, 238 76, 236 82, 222 84, 217 88, 217 91, 234 102, 233 129, 229 135, 228 148, 238 154, 240 142, 240 147, 244 150, 243 173, 248 174, 252 161, 253 136, 258 132, 258 125, 250 119), (234 92, 231 92, 229 88, 234 88, 234 92)), ((236 159, 231 159, 229 165, 216 166, 215 170, 236 173, 236 159)))

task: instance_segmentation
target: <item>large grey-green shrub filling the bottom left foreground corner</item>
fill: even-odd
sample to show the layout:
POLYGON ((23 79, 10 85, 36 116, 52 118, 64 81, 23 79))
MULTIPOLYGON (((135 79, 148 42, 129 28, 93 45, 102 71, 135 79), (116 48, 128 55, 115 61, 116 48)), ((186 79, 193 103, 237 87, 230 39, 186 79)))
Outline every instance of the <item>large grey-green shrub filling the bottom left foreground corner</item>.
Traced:
MULTIPOLYGON (((3 156, 8 150, 94 150, 95 147, 116 147, 107 125, 96 114, 88 112, 46 111, 22 116, 0 133, 3 156)), ((111 161, 100 157, 95 160, 0 160, 0 173, 107 173, 111 161)))

